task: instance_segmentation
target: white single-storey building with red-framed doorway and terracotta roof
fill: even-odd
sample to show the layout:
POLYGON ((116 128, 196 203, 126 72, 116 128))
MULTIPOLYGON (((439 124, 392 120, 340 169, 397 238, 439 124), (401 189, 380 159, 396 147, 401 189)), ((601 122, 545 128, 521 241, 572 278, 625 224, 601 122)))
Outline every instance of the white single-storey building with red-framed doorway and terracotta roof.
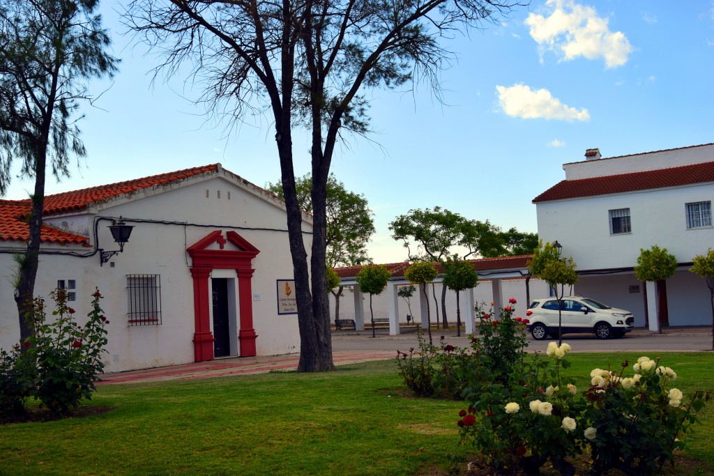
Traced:
MULTIPOLYGON (((28 210, 0 201, 5 349, 19 340, 11 253, 24 251, 28 210)), ((307 250, 311 228, 304 214, 307 250)), ((104 295, 107 371, 299 348, 284 203, 220 164, 47 196, 41 243, 36 296, 67 288, 85 316, 95 288, 104 295), (120 217, 134 228, 111 253, 120 217)))

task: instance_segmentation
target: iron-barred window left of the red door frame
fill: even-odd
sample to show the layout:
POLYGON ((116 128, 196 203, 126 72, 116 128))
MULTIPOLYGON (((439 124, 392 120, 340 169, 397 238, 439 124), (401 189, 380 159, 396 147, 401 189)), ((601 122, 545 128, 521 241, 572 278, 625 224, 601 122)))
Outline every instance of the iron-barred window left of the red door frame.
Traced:
POLYGON ((161 324, 161 275, 126 275, 129 325, 161 324))

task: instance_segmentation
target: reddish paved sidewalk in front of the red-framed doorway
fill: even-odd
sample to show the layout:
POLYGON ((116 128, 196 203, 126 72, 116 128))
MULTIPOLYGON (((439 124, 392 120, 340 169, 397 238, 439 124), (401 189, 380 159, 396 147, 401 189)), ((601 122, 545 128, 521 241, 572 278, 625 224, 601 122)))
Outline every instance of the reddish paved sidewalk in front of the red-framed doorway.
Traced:
MULTIPOLYGON (((340 350, 333 352, 335 365, 386 360, 396 357, 395 351, 340 350)), ((299 354, 273 355, 269 357, 232 357, 206 362, 171 365, 169 367, 131 370, 129 372, 108 373, 101 377, 97 385, 116 383, 159 382, 163 380, 191 380, 197 378, 223 377, 226 375, 251 375, 268 373, 271 370, 296 370, 299 354)))

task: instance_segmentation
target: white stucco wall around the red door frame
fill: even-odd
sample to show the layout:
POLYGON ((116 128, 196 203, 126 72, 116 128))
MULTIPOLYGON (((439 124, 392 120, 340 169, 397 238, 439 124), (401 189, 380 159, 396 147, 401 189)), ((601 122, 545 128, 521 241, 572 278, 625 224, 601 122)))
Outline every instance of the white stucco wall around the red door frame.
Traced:
MULTIPOLYGON (((36 293, 46 295, 56 287, 58 279, 76 279, 79 300, 73 307, 77 315, 86 315, 89 296, 95 286, 99 287, 105 296, 102 306, 110 321, 106 371, 193 362, 193 278, 186 248, 216 230, 222 230, 224 237, 226 231, 236 231, 261 251, 253 260, 256 271, 251 282, 253 327, 258 334, 257 354, 292 353, 299 348, 297 315, 278 315, 276 280, 292 279, 293 266, 285 212, 271 201, 263 201, 231 181, 211 178, 134 201, 110 201, 99 206, 96 213, 99 216, 123 216, 128 224, 134 225, 124 253, 114 256, 104 266, 99 265, 99 255, 92 258, 43 255, 36 293), (219 191, 221 198, 218 198, 219 191), (190 224, 141 223, 142 220, 190 224), (126 275, 134 274, 161 276, 161 325, 128 325, 126 275)), ((88 224, 91 221, 85 216, 86 213, 56 221, 64 221, 65 228, 69 229, 91 228, 88 224)), ((105 250, 115 250, 118 245, 106 228, 109 224, 102 221, 99 225, 99 245, 105 250)), ((310 228, 309 223, 303 224, 303 230, 310 228)), ((311 235, 306 233, 304 236, 309 259, 311 235)), ((226 249, 232 246, 228 243, 226 249)), ((80 249, 91 251, 91 248, 80 249)), ((0 279, 7 280, 11 268, 11 255, 0 255, 0 279)), ((235 276, 234 270, 213 271, 213 277, 235 276)), ((237 290, 237 280, 232 283, 237 290)), ((11 288, 11 285, 0 288, 0 299, 9 304, 5 306, 0 325, 2 348, 9 348, 19 338, 11 288)), ((238 328, 233 328, 231 333, 237 334, 239 319, 233 322, 238 328)), ((231 348, 233 350, 233 346, 231 348)))

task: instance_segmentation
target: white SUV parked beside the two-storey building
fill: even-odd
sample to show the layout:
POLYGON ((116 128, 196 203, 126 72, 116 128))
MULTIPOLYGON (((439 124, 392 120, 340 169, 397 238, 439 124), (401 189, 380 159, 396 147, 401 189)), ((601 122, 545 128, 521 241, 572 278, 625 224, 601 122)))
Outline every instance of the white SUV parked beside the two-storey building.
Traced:
MULTIPOLYGON (((635 318, 628 310, 610 308, 603 303, 582 296, 565 296, 560 300, 561 331, 567 333, 595 333, 600 339, 622 337, 635 327, 635 318)), ((558 338, 558 300, 535 299, 526 312, 528 330, 536 340, 550 335, 558 338)))

